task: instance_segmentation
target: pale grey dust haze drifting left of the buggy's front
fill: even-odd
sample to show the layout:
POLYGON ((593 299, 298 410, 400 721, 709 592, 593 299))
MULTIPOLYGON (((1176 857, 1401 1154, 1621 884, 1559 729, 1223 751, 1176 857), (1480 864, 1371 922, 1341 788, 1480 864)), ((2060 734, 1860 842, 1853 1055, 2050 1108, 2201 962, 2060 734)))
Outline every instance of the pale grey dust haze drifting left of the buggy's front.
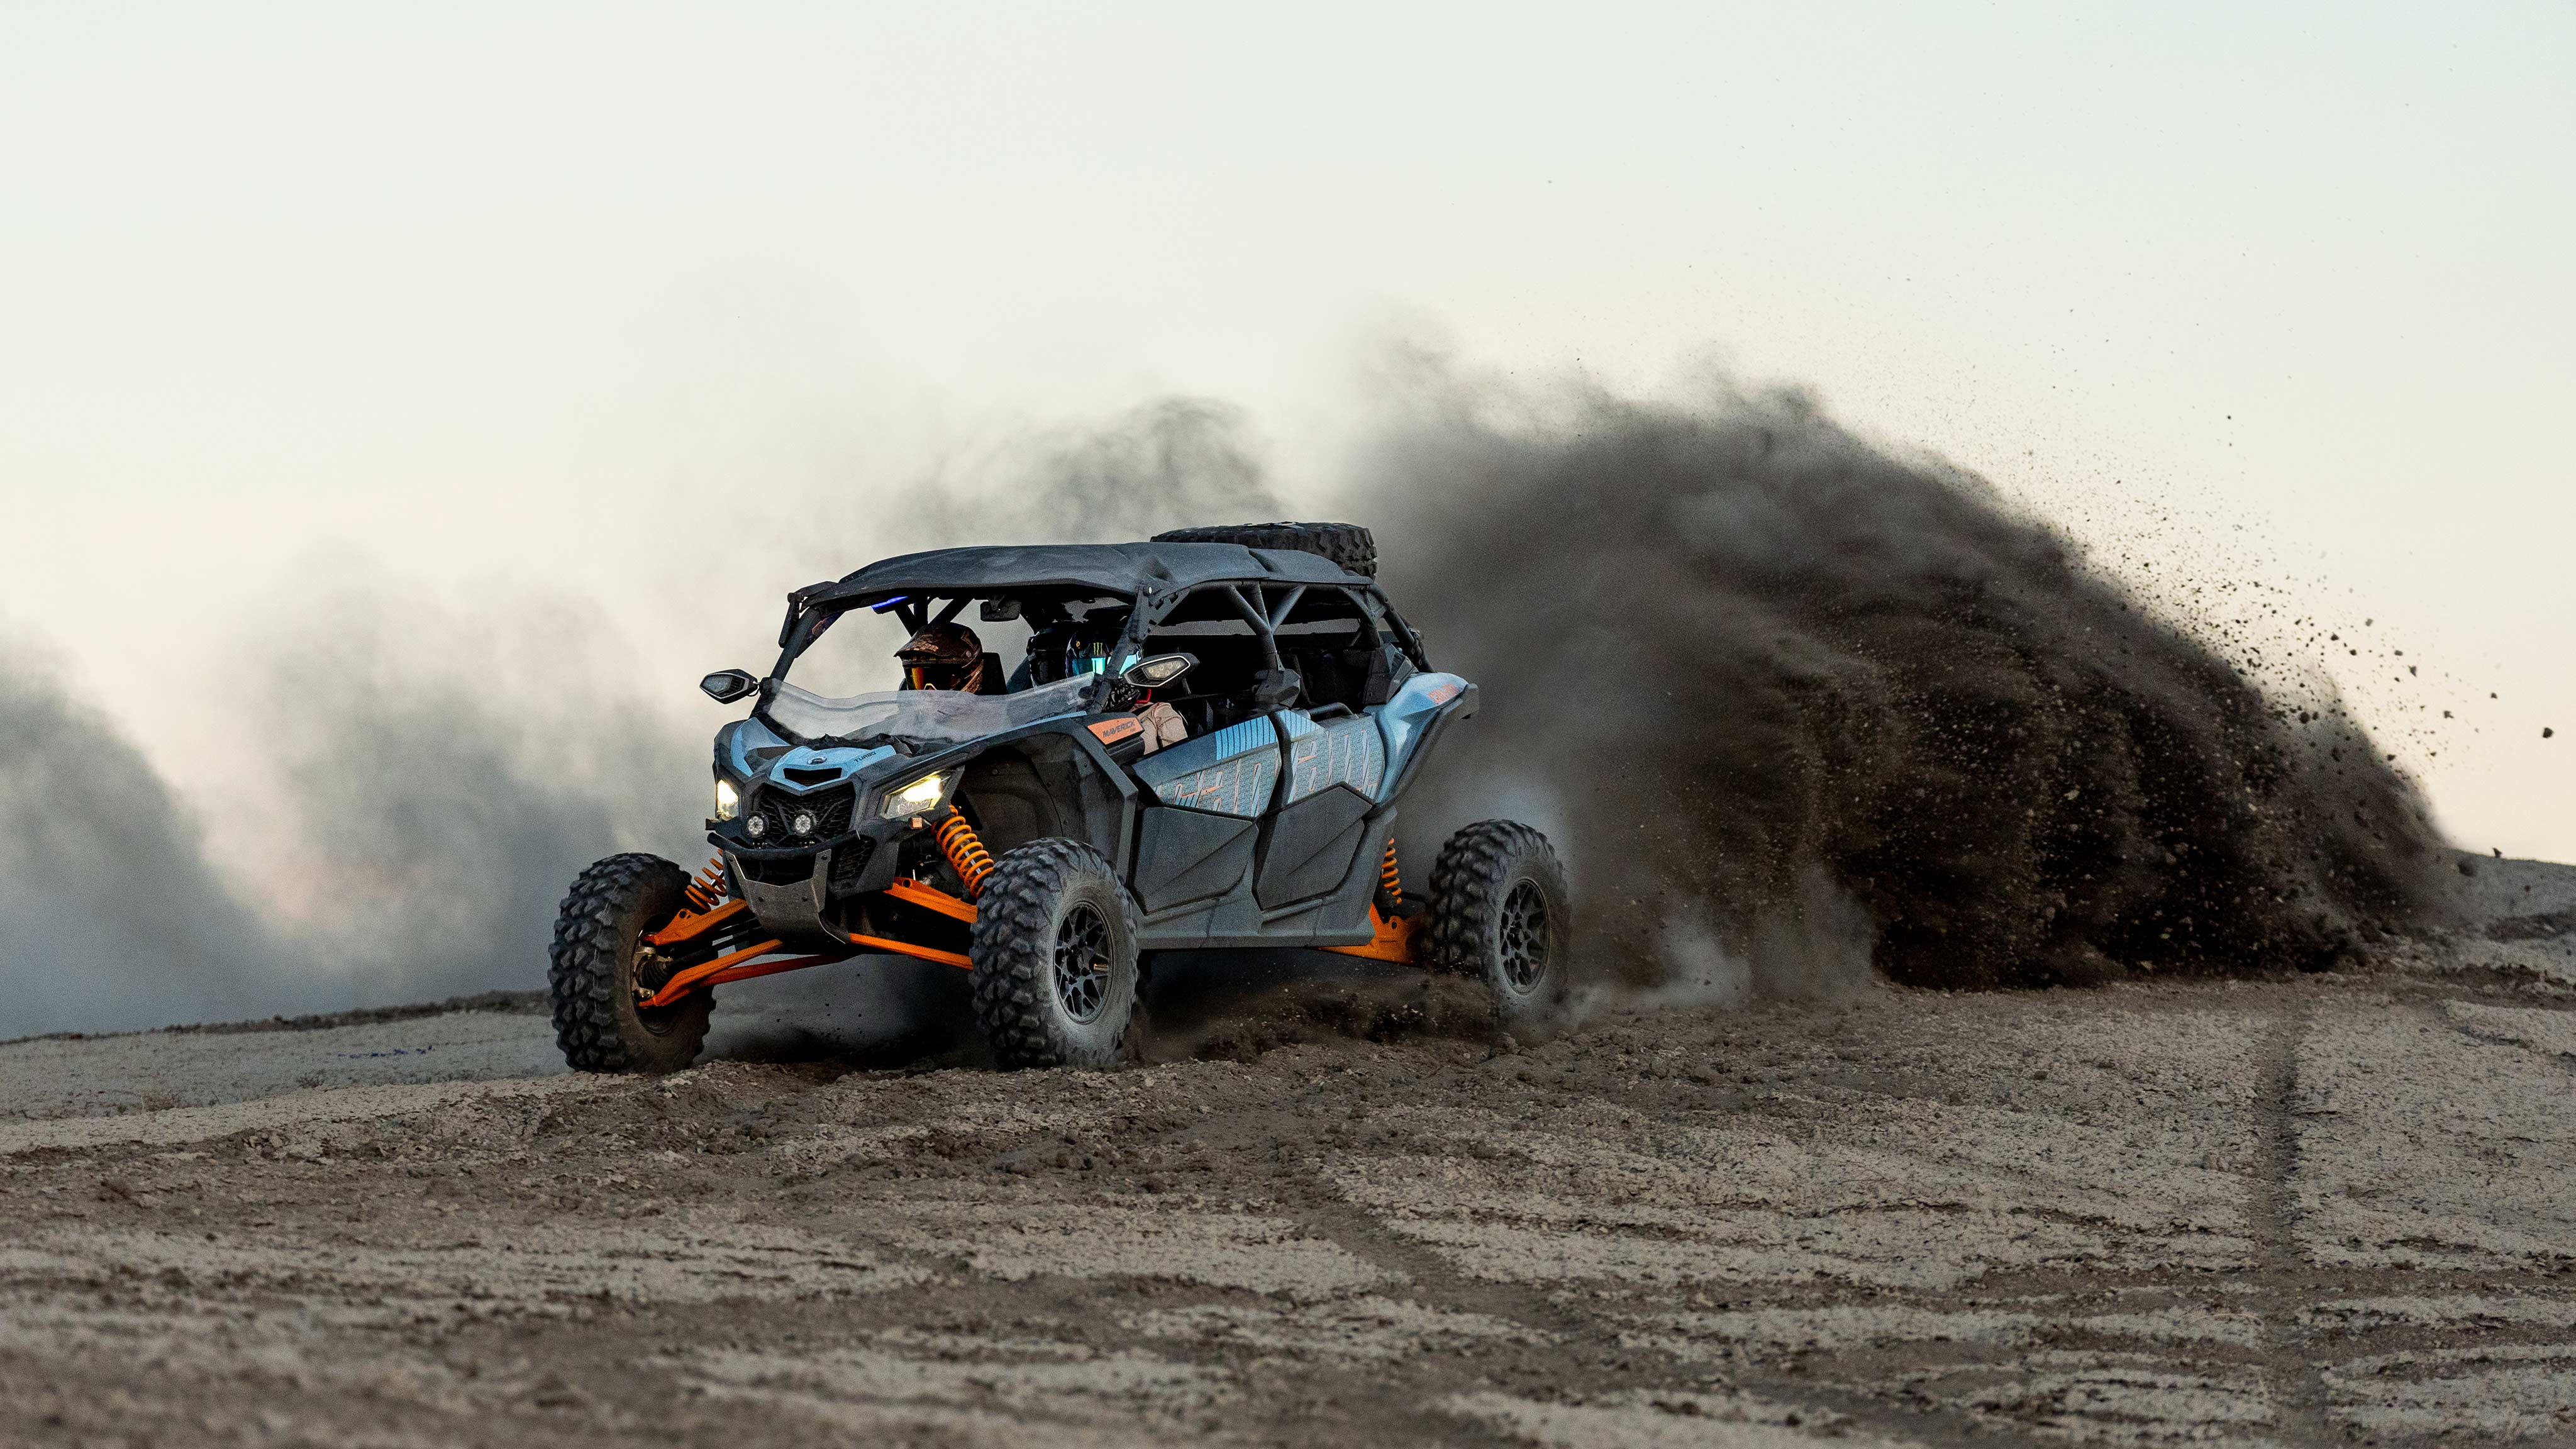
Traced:
POLYGON ((572 874, 701 810, 706 743, 616 637, 544 598, 322 598, 198 701, 260 743, 211 802, 0 657, 0 1039, 541 985, 572 874))

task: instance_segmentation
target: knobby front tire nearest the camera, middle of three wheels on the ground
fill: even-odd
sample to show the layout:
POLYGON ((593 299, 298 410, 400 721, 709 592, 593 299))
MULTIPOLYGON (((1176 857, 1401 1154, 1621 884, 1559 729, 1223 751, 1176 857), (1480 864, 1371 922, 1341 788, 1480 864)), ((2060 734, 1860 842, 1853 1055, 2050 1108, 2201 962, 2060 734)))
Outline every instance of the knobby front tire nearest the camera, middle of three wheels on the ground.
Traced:
POLYGON ((974 1016, 1002 1067, 1108 1067, 1136 1016, 1136 905, 1100 851, 1030 841, 974 902, 974 1016))

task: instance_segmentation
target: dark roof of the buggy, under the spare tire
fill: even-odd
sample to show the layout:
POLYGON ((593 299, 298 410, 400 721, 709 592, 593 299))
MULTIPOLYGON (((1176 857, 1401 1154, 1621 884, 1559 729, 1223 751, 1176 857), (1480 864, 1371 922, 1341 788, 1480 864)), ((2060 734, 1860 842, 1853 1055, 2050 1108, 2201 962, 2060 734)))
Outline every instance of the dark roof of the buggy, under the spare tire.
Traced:
POLYGON ((1340 583, 1370 580, 1298 549, 1247 549, 1242 544, 1005 544, 930 549, 878 559, 837 583, 799 588, 799 608, 837 601, 884 601, 904 593, 989 596, 1023 588, 1087 588, 1133 596, 1144 588, 1175 590, 1200 583, 1340 583))

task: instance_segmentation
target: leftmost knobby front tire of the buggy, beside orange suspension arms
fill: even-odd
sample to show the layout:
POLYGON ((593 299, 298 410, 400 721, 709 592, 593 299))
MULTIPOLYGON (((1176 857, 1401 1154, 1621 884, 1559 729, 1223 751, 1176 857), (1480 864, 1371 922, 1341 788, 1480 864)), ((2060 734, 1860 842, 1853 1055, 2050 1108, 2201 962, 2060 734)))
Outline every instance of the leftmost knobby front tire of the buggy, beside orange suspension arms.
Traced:
POLYGON ((636 946, 680 913, 688 871, 662 856, 608 856, 572 882, 554 918, 546 987, 554 1042, 577 1073, 677 1073, 706 1044, 716 993, 636 1008, 636 946))

